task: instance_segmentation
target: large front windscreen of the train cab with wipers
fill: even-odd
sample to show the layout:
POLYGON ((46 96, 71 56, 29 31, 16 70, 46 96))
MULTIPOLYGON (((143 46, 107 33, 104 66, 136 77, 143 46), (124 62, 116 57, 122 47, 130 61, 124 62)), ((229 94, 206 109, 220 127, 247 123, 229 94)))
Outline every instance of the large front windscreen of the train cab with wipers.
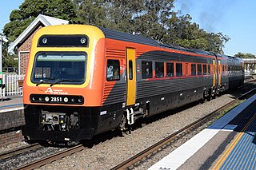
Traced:
POLYGON ((37 53, 31 81, 37 85, 82 84, 86 81, 86 53, 37 53))

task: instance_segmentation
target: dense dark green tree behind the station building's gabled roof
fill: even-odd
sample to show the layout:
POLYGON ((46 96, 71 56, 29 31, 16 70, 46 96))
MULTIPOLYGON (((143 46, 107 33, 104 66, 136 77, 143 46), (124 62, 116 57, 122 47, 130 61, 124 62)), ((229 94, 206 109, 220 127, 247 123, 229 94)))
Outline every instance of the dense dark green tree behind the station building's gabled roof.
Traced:
POLYGON ((3 29, 6 38, 14 42, 38 14, 79 22, 71 0, 25 0, 19 10, 10 13, 10 22, 3 29))

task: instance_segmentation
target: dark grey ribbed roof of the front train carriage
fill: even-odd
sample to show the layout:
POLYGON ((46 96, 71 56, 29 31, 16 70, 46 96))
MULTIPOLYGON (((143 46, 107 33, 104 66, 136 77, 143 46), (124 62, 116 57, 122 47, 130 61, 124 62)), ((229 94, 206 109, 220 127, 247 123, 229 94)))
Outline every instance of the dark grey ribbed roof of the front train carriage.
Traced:
POLYGON ((158 42, 156 40, 153 40, 151 38, 144 38, 142 36, 134 35, 134 34, 128 34, 124 33, 118 30, 110 30, 106 29, 104 27, 98 27, 100 30, 102 30, 103 34, 106 38, 111 38, 115 40, 122 40, 126 42, 135 42, 140 43, 144 45, 153 45, 153 46, 161 46, 167 49, 178 49, 185 52, 190 53, 198 53, 198 54, 204 54, 204 55, 214 55, 214 53, 209 51, 204 51, 202 49, 194 49, 194 48, 185 48, 182 46, 176 46, 171 44, 163 44, 162 42, 158 42))

